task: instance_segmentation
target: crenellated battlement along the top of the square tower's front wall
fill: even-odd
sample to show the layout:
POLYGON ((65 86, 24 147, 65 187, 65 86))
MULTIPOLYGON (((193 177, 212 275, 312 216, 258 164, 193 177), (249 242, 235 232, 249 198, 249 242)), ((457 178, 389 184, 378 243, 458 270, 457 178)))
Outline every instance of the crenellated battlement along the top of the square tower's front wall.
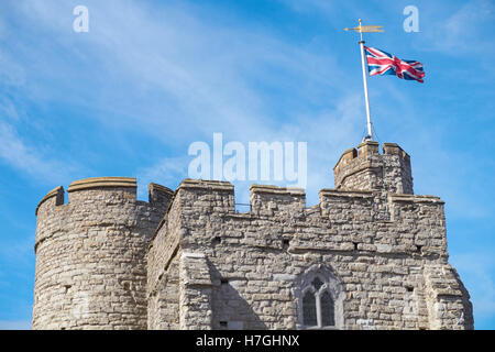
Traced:
MULTIPOLYGON (((396 153, 394 153, 397 155, 396 153)), ((235 215, 235 189, 229 182, 184 179, 178 186, 176 197, 173 202, 177 202, 182 209, 191 209, 206 215, 235 215)), ((373 190, 324 188, 319 191, 319 204, 307 207, 306 193, 302 188, 278 187, 273 185, 252 185, 250 187, 250 210, 243 212, 250 218, 273 218, 273 219, 295 219, 305 217, 308 213, 318 212, 327 216, 328 211, 349 209, 349 212, 356 210, 369 213, 370 221, 402 221, 407 211, 419 211, 418 207, 440 207, 443 211, 443 201, 435 196, 418 196, 410 194, 387 193, 388 196, 376 194, 373 190), (408 204, 399 212, 400 205, 408 204)), ((350 218, 336 213, 336 219, 350 218)), ((157 229, 160 230, 160 229, 157 229)))

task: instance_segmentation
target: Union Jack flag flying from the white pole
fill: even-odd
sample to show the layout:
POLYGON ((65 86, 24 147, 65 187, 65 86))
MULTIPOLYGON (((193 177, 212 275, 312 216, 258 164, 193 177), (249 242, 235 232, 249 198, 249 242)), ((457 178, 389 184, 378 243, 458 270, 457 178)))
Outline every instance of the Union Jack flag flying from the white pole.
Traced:
POLYGON ((403 79, 416 79, 421 84, 424 82, 421 78, 425 77, 425 72, 420 62, 400 59, 375 47, 364 46, 364 50, 366 51, 370 76, 397 75, 397 77, 403 79))

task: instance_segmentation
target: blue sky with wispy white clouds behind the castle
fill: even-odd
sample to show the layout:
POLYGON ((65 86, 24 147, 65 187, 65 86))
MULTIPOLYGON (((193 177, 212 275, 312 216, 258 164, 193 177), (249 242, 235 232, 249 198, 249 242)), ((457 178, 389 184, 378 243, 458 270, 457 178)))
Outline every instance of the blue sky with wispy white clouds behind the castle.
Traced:
MULTIPOLYGON (((187 177, 191 142, 308 143, 308 205, 365 129, 355 33, 425 64, 426 82, 369 79, 380 142, 411 155, 415 193, 446 200, 450 263, 495 328, 494 3, 6 0, 0 3, 0 328, 29 328, 34 209, 52 188, 187 177), (89 32, 73 9, 89 9, 89 32), (406 6, 419 32, 406 33, 406 6)), ((237 183, 237 199, 248 185, 237 183)))

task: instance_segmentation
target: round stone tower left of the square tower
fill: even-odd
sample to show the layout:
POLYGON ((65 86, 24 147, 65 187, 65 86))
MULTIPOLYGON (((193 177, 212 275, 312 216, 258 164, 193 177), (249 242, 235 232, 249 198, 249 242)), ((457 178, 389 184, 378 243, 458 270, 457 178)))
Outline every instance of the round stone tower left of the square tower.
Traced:
POLYGON ((51 191, 36 209, 34 329, 146 329, 145 253, 172 191, 105 177, 51 191))

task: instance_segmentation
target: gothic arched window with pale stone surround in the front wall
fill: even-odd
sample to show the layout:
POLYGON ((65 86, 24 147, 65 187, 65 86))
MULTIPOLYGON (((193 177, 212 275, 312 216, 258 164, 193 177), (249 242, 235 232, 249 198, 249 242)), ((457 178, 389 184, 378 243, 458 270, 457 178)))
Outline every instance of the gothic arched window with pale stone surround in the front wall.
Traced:
POLYGON ((299 328, 343 328, 342 301, 345 295, 329 270, 314 265, 299 277, 295 294, 298 299, 299 328))

